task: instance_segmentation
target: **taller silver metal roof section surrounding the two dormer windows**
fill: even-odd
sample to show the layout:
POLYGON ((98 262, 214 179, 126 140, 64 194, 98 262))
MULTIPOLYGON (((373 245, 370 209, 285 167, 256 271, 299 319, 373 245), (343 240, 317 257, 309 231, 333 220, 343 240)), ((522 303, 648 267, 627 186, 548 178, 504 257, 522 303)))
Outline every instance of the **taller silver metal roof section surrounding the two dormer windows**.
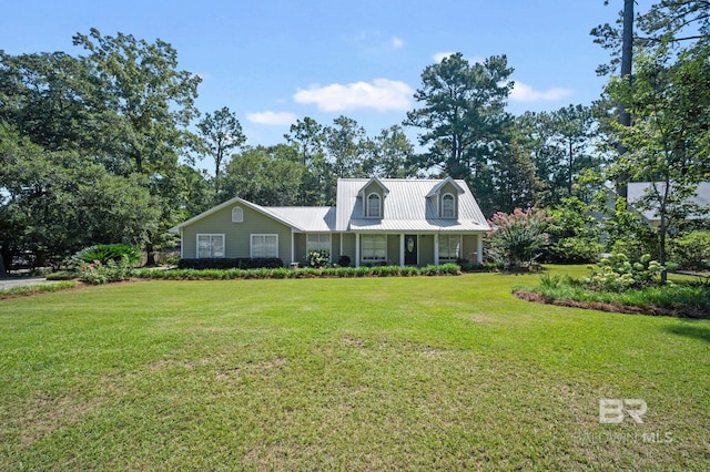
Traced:
POLYGON ((367 178, 339 178, 337 181, 337 219, 335 230, 422 230, 456 232, 488 230, 474 195, 464 181, 454 181, 463 193, 458 195, 458 219, 438 218, 434 202, 427 198, 433 189, 440 188, 442 179, 383 178, 389 189, 384 201, 383 218, 363 218, 363 199, 358 198, 367 178))

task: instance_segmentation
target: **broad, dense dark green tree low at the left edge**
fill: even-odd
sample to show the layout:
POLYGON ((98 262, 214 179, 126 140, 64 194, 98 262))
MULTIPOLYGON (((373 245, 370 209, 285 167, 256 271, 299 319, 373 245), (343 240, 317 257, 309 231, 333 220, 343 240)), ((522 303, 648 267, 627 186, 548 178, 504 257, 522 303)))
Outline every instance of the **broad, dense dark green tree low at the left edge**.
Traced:
POLYGON ((49 152, 0 125, 0 245, 57 266, 95 243, 143 244, 158 220, 145 177, 111 175, 75 152, 49 152))

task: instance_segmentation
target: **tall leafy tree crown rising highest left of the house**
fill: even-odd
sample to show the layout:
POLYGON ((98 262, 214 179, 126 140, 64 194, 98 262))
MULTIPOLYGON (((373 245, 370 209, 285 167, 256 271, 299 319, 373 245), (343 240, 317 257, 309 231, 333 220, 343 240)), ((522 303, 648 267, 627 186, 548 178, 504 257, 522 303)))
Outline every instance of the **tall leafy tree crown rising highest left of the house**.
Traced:
POLYGON ((73 43, 88 51, 81 59, 100 81, 101 106, 113 114, 101 131, 120 137, 114 153, 139 174, 175 167, 196 141, 186 126, 197 113, 201 79, 176 70, 178 51, 161 40, 149 43, 121 32, 103 37, 92 28, 73 43))

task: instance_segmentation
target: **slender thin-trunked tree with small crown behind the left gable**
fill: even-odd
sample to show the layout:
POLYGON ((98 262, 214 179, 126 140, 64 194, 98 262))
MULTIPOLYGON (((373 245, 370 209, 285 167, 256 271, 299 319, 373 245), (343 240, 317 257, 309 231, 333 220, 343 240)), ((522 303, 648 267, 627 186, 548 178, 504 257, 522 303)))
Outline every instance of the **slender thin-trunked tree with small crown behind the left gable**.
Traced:
POLYGON ((214 158, 214 193, 220 194, 220 173, 222 162, 229 152, 246 142, 242 125, 227 106, 214 113, 205 113, 197 123, 197 130, 206 151, 214 158))

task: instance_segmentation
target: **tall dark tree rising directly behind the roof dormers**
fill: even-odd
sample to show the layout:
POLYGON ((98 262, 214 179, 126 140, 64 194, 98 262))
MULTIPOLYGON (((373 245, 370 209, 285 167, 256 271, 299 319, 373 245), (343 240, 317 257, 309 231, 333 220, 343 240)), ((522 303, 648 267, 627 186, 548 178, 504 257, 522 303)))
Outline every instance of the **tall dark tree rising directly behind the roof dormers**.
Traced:
POLYGON ((405 125, 424 130, 428 146, 422 167, 438 167, 454 178, 468 178, 500 140, 513 82, 505 55, 469 64, 462 53, 428 65, 414 98, 422 107, 407 113, 405 125))

